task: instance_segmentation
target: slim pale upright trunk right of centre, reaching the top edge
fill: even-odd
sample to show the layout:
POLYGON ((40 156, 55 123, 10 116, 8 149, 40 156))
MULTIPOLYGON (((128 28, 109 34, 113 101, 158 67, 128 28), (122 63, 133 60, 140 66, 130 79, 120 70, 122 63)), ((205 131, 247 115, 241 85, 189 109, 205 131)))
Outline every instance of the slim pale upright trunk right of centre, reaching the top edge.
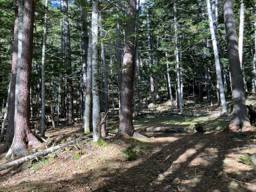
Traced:
POLYGON ((173 15, 174 15, 174 46, 175 46, 175 52, 176 52, 176 68, 177 68, 177 89, 178 89, 178 98, 179 98, 179 107, 180 107, 180 112, 182 113, 182 100, 181 100, 181 92, 180 92, 180 67, 179 67, 179 55, 178 55, 178 34, 177 34, 177 17, 176 17, 176 12, 177 12, 177 4, 176 2, 173 3, 173 15))

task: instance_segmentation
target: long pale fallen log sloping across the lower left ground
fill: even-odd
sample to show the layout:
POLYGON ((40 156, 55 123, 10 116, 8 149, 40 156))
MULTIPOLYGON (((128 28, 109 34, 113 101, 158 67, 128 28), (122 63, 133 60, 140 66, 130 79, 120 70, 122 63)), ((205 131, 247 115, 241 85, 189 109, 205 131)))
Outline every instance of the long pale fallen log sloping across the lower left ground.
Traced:
POLYGON ((3 171, 4 169, 8 169, 8 168, 10 168, 12 166, 20 165, 22 163, 25 163, 25 162, 31 160, 31 159, 35 159, 37 157, 47 155, 48 153, 51 153, 54 150, 58 150, 60 148, 66 147, 68 145, 71 145, 74 142, 78 141, 79 139, 91 140, 92 138, 89 138, 90 136, 92 136, 92 133, 90 133, 88 135, 84 135, 81 138, 78 138, 78 139, 75 139, 75 140, 71 140, 71 141, 68 141, 66 143, 63 143, 63 144, 60 144, 60 145, 56 145, 56 146, 47 148, 47 149, 44 149, 43 151, 39 151, 39 152, 33 153, 31 155, 28 155, 28 156, 25 156, 25 157, 21 157, 20 159, 14 160, 12 162, 0 165, 0 171, 3 171))

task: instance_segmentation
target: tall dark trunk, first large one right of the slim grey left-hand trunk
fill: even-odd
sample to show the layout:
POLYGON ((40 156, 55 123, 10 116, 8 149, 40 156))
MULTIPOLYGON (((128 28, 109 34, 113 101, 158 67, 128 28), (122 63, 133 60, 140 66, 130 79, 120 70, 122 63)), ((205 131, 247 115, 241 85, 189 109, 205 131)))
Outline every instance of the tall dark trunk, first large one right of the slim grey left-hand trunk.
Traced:
POLYGON ((69 22, 68 22, 68 0, 63 0, 63 10, 64 10, 64 33, 65 33, 65 53, 66 53, 66 71, 67 75, 67 124, 72 124, 73 121, 73 81, 70 77, 72 74, 71 68, 71 56, 70 56, 70 36, 69 36, 69 22))

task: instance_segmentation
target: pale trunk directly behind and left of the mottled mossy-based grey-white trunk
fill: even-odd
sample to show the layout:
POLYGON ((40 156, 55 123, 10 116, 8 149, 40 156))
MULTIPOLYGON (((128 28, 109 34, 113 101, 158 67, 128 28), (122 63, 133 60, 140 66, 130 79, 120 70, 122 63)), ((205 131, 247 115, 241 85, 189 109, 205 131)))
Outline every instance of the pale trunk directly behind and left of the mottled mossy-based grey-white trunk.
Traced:
POLYGON ((91 108, 92 108, 92 33, 89 35, 88 56, 86 67, 86 97, 84 111, 84 133, 92 130, 91 124, 91 108))

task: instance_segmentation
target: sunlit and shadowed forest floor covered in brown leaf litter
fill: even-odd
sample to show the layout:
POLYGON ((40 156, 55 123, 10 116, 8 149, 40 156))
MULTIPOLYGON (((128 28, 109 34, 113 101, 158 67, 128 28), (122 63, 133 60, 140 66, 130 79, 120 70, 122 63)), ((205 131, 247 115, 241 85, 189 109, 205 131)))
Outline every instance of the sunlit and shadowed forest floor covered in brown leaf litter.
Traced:
MULTIPOLYGON (((253 97, 247 98, 247 104, 254 102, 253 97)), ((193 102, 190 105, 196 106, 193 102)), ((157 109, 168 108, 170 103, 165 102, 157 109)), ((218 105, 206 104, 193 110, 207 109, 220 111, 218 105)), ((244 154, 256 153, 256 135, 221 132, 230 119, 217 116, 137 117, 134 127, 148 139, 113 136, 108 137, 103 146, 94 146, 90 141, 80 143, 82 150, 66 147, 38 161, 0 172, 0 191, 256 191, 255 166, 239 160, 244 154), (205 133, 142 131, 145 127, 189 126, 198 122, 205 133)), ((117 123, 109 120, 108 126, 117 123)), ((79 126, 63 125, 47 131, 46 135, 74 131, 79 135, 79 126)), ((115 133, 117 129, 108 131, 115 133)))

